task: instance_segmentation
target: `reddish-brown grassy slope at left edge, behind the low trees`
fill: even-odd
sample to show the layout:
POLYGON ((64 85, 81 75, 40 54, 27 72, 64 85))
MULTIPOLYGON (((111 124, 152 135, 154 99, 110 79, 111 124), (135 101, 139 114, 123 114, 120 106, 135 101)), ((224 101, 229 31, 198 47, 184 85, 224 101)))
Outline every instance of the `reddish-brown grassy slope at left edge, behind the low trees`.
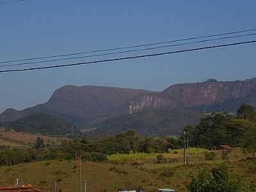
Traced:
POLYGON ((38 137, 42 138, 45 144, 60 144, 61 141, 68 140, 68 138, 42 136, 41 134, 0 131, 0 147, 28 147, 31 146, 38 137))

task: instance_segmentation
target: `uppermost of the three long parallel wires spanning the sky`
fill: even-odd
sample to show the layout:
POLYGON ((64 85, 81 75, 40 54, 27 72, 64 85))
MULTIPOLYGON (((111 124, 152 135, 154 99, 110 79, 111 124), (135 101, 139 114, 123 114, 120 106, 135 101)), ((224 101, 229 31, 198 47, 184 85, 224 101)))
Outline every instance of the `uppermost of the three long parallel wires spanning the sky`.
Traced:
MULTIPOLYGON (((26 1, 26 0, 22 0, 22 1, 26 1)), ((58 55, 44 56, 44 57, 25 58, 25 59, 20 59, 20 60, 0 61, 0 63, 13 63, 13 62, 17 62, 17 61, 41 60, 41 59, 47 59, 47 58, 58 58, 58 57, 63 57, 63 56, 74 56, 74 55, 88 54, 88 53, 94 53, 94 52, 115 51, 115 50, 119 50, 119 49, 147 47, 147 46, 151 46, 151 45, 169 44, 169 43, 173 43, 173 42, 196 40, 196 39, 200 39, 200 38, 209 38, 209 37, 214 37, 214 36, 232 35, 232 34, 236 34, 236 33, 244 33, 244 32, 249 32, 249 31, 256 31, 256 29, 246 29, 246 30, 243 30, 243 31, 232 31, 232 32, 228 32, 228 33, 218 33, 218 34, 214 34, 214 35, 196 36, 196 37, 190 37, 190 38, 180 38, 180 39, 177 39, 177 40, 169 40, 169 41, 165 41, 165 42, 155 42, 155 43, 150 43, 150 44, 132 45, 132 46, 127 46, 127 47, 116 47, 116 48, 111 48, 111 49, 98 49, 98 50, 95 50, 95 51, 88 51, 88 52, 75 52, 75 53, 70 53, 70 54, 58 54, 58 55)))

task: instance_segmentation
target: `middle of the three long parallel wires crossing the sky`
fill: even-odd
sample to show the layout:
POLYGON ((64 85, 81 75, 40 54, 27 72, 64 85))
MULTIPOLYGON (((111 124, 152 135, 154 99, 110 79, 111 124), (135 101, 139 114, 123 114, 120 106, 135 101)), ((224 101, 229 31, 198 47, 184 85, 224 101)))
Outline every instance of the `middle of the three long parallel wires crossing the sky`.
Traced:
POLYGON ((161 48, 166 48, 166 47, 176 47, 180 45, 191 45, 191 44, 198 44, 198 43, 203 43, 203 42, 211 42, 211 41, 216 41, 216 40, 223 40, 223 39, 231 39, 231 38, 238 38, 238 37, 243 37, 243 36, 253 36, 256 35, 256 33, 251 33, 251 34, 246 34, 246 35, 236 35, 236 36, 225 36, 221 38, 214 38, 214 39, 207 39, 207 40, 200 40, 196 42, 188 42, 184 44, 172 44, 172 45, 164 45, 164 46, 158 46, 158 47, 150 47, 146 49, 132 49, 128 51, 119 51, 119 52, 108 52, 104 54, 93 54, 89 56, 78 56, 78 57, 71 57, 71 58, 61 58, 57 60, 45 60, 45 61, 34 61, 34 62, 26 62, 26 63, 16 63, 16 64, 8 64, 8 65, 0 65, 0 67, 13 67, 13 66, 20 66, 20 65, 30 65, 30 64, 37 64, 37 63, 49 63, 53 61, 63 61, 63 60, 74 60, 74 59, 81 59, 81 58, 91 58, 91 57, 96 57, 96 56, 106 56, 106 55, 111 55, 111 54, 122 54, 122 53, 127 53, 127 52, 137 52, 137 51, 148 51, 148 50, 154 50, 154 49, 161 49, 161 48))

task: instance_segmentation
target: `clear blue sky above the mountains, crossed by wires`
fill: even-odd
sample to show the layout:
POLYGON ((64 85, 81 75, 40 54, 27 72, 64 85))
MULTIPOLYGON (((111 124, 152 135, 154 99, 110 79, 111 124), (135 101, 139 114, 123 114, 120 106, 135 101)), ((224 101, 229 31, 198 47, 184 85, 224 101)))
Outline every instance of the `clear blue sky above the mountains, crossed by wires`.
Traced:
MULTIPOLYGON (((0 61, 252 29, 256 28, 255 6, 255 0, 27 0, 0 4, 0 61)), ((232 41, 255 39, 256 36, 251 36, 232 41)), ((136 54, 203 45, 210 44, 136 54)), ((0 112, 7 108, 24 109, 46 102, 54 90, 67 84, 161 91, 171 84, 200 82, 209 77, 220 81, 249 79, 256 77, 255 53, 256 44, 250 44, 99 65, 2 73, 0 112)), ((125 55, 105 58, 119 56, 125 55)), ((98 59, 102 58, 43 65, 98 59)))

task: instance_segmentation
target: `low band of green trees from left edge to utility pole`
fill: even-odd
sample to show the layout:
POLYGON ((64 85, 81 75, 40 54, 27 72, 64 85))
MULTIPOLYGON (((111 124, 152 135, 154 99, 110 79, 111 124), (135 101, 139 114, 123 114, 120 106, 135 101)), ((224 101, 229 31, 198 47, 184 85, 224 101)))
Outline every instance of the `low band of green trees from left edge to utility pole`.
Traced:
POLYGON ((37 138, 33 148, 0 149, 0 165, 31 163, 34 161, 75 160, 81 156, 84 161, 105 161, 110 154, 167 152, 182 147, 179 138, 152 138, 128 131, 104 138, 74 138, 63 140, 61 145, 45 145, 37 138))

